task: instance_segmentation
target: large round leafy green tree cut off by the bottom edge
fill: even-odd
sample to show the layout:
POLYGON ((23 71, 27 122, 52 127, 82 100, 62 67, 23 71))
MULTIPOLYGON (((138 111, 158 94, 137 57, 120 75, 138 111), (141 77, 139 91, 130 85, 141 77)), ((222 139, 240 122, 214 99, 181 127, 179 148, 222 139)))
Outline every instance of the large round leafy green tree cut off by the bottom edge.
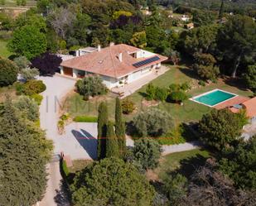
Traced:
POLYGON ((139 174, 133 164, 118 158, 106 158, 89 165, 75 175, 70 189, 75 206, 149 206, 154 196, 146 177, 139 174))

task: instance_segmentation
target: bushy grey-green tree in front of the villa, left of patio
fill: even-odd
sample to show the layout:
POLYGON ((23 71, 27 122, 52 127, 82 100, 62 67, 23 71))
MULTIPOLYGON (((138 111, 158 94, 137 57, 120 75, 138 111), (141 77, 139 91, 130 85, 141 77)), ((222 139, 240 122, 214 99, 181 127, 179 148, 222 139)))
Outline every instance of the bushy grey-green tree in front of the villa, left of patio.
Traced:
POLYGON ((78 93, 83 95, 85 98, 104 94, 108 91, 105 84, 102 83, 102 79, 98 75, 85 76, 85 78, 78 80, 75 86, 78 93))

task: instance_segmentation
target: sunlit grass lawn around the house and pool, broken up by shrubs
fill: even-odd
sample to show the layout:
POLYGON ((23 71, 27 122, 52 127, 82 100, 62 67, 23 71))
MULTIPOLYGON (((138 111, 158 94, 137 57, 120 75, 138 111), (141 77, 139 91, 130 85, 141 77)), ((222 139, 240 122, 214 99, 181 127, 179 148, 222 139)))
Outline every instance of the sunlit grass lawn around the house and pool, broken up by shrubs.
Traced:
MULTIPOLYGON (((170 84, 182 84, 188 82, 191 84, 192 89, 188 92, 190 97, 195 96, 200 93, 205 93, 212 89, 224 89, 225 91, 236 93, 239 95, 250 96, 252 93, 249 91, 239 89, 238 87, 225 84, 222 79, 216 84, 210 84, 205 87, 198 85, 198 79, 196 79, 196 74, 192 69, 186 68, 186 66, 169 66, 165 74, 162 74, 157 79, 152 80, 152 84, 167 88, 170 84)), ((125 119, 130 121, 134 114, 142 111, 145 107, 142 107, 142 100, 145 97, 147 85, 143 86, 137 92, 128 96, 136 104, 136 111, 133 114, 125 115, 125 119)), ((89 115, 97 116, 98 115, 98 106, 100 101, 105 101, 109 105, 109 117, 114 119, 114 97, 109 94, 101 98, 94 98, 85 102, 83 98, 77 94, 73 93, 69 100, 66 102, 66 112, 70 113, 72 117, 78 115, 89 115)), ((203 114, 209 113, 211 108, 206 107, 200 103, 195 103, 191 100, 186 100, 184 105, 181 106, 176 103, 159 103, 157 108, 167 111, 171 114, 176 125, 181 122, 195 122, 200 120, 203 114)))

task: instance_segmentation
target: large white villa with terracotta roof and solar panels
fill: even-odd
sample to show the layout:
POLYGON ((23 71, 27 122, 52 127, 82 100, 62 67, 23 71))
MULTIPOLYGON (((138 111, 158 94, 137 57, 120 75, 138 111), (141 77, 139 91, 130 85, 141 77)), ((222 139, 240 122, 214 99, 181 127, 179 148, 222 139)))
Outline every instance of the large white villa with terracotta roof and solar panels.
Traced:
POLYGON ((60 74, 73 78, 98 74, 109 89, 129 84, 160 69, 167 57, 124 44, 114 45, 60 64, 60 74))

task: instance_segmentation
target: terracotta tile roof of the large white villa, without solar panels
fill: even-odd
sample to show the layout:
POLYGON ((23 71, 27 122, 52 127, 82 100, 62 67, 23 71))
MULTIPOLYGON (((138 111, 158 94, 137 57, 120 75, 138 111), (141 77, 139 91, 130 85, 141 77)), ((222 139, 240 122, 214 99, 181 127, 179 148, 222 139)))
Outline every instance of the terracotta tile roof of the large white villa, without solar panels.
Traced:
MULTIPOLYGON (((61 66, 85 70, 94 74, 102 74, 114 78, 120 78, 134 71, 142 69, 146 65, 136 68, 134 63, 146 60, 147 58, 133 58, 132 53, 139 51, 140 49, 128 46, 124 44, 109 46, 100 51, 95 51, 88 55, 82 55, 75 57, 71 60, 65 60, 61 63, 61 66), (118 54, 122 53, 122 62, 118 60, 118 54)), ((157 55, 157 54, 156 54, 157 55)), ((154 55, 152 55, 154 56, 154 55)), ((157 55, 160 60, 157 60, 148 65, 154 65, 167 60, 167 57, 157 55)))

